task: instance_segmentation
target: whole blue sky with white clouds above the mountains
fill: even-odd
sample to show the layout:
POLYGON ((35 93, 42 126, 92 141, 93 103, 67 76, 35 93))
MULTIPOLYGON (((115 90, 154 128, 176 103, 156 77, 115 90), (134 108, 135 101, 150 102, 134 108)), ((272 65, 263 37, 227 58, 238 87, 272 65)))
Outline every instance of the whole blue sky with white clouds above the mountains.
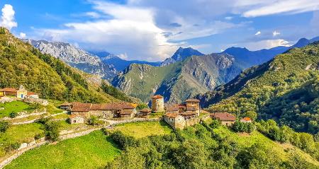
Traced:
POLYGON ((70 42, 124 59, 162 61, 178 47, 209 54, 319 36, 318 0, 1 0, 17 37, 70 42))

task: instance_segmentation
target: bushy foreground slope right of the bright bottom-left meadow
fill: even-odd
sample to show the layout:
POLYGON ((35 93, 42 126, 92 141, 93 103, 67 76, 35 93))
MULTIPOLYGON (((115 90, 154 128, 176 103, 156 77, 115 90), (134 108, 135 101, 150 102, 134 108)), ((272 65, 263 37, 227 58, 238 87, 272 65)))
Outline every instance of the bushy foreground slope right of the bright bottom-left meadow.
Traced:
POLYGON ((317 168, 314 158, 290 144, 279 144, 255 131, 196 124, 164 136, 141 139, 116 132, 123 149, 106 168, 317 168))

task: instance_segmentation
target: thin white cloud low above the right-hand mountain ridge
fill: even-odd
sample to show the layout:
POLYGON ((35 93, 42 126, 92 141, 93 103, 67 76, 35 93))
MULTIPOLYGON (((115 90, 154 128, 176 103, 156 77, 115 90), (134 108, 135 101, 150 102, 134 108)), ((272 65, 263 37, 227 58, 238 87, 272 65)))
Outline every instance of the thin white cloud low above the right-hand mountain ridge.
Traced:
POLYGON ((270 49, 272 47, 278 47, 278 46, 289 47, 291 46, 291 43, 283 39, 278 39, 278 40, 260 40, 257 42, 247 42, 247 43, 242 43, 238 45, 238 47, 246 47, 247 49, 250 49, 252 51, 259 50, 259 49, 270 49))

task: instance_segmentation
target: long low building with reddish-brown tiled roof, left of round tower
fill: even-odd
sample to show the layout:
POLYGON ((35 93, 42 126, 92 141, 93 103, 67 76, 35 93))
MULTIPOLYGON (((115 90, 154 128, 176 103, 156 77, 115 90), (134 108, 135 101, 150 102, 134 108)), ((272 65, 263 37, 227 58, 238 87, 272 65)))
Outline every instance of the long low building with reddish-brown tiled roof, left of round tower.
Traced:
POLYGON ((107 117, 134 117, 135 106, 131 103, 72 103, 72 115, 82 115, 84 117, 99 116, 107 117))

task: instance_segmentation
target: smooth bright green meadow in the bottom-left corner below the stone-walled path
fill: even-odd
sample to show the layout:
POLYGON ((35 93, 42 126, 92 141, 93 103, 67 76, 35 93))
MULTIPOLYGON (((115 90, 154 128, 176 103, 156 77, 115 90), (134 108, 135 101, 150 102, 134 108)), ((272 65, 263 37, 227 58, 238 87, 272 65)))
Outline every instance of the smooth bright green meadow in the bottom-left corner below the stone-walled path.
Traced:
POLYGON ((101 131, 23 153, 6 168, 101 168, 121 151, 101 131))

